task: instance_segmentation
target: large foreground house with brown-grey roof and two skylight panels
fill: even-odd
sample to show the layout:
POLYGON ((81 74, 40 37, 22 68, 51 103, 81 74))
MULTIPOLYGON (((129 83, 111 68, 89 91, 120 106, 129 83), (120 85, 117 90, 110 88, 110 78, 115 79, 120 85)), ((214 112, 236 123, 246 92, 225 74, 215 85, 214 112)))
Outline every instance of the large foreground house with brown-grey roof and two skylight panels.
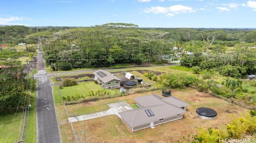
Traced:
POLYGON ((174 96, 162 98, 156 94, 137 97, 134 100, 140 108, 118 113, 131 131, 154 128, 155 125, 182 119, 189 105, 174 96))

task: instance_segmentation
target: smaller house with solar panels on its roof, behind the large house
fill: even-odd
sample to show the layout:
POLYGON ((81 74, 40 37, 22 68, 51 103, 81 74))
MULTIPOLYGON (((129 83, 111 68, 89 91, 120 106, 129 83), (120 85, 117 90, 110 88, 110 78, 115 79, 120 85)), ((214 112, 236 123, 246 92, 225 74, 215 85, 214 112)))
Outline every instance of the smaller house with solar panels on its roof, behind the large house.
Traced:
POLYGON ((98 70, 93 72, 93 74, 94 79, 106 89, 120 87, 120 79, 108 71, 98 70))

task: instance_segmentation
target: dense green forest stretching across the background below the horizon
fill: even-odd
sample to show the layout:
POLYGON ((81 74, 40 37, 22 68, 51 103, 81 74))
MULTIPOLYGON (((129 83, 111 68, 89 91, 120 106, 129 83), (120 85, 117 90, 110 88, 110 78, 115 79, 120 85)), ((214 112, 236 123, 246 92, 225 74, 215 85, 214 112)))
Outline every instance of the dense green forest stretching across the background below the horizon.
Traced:
POLYGON ((123 23, 0 27, 0 44, 38 42, 54 70, 179 59, 182 66, 214 69, 235 78, 256 72, 255 29, 139 28, 123 23))

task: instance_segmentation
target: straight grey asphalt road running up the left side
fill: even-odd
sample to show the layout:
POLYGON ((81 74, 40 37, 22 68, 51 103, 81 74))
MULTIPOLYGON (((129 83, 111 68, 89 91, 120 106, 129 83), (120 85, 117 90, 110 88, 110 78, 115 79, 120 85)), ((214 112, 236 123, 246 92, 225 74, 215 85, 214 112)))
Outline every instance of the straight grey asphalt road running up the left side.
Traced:
POLYGON ((38 56, 36 111, 37 143, 62 143, 56 118, 52 86, 49 74, 45 71, 42 54, 38 56))

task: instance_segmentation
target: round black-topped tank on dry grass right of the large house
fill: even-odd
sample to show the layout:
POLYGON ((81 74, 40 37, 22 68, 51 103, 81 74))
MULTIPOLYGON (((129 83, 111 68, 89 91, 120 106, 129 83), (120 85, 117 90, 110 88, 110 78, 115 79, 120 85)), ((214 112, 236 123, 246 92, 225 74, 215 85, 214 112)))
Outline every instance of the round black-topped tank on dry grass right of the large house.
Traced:
POLYGON ((201 107, 196 109, 196 116, 203 119, 216 119, 217 112, 210 108, 201 107))

